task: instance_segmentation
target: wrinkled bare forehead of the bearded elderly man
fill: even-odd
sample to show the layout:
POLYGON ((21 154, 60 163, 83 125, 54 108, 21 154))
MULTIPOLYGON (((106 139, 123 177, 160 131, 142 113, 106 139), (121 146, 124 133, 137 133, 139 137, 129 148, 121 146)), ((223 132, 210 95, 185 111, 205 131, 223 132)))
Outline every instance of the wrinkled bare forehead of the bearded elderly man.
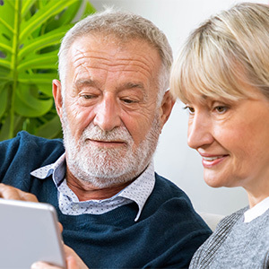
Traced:
POLYGON ((100 41, 95 37, 74 41, 68 54, 69 67, 76 72, 80 69, 80 73, 87 73, 88 68, 96 68, 113 72, 137 72, 149 77, 159 74, 161 56, 147 43, 135 40, 125 47, 117 47, 117 43, 100 41))

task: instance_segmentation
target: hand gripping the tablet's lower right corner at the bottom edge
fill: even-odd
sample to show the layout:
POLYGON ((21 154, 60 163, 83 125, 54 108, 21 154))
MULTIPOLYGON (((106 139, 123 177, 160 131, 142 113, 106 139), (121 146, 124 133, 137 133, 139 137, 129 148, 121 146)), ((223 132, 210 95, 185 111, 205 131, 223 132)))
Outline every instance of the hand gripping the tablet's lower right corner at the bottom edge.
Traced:
MULTIPOLYGON (((82 259, 77 256, 71 247, 65 247, 65 260, 66 269, 89 269, 83 262, 82 259)), ((30 269, 63 269, 55 265, 48 265, 47 263, 37 262, 30 266, 30 269)))

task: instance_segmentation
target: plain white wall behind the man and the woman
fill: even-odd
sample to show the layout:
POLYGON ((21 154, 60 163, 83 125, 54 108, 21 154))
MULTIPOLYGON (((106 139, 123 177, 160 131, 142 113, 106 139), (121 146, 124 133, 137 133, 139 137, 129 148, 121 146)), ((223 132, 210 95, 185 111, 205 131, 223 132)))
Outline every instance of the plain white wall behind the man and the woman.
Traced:
MULTIPOLYGON (((200 22, 221 9, 243 2, 232 0, 90 0, 97 10, 103 5, 141 14, 154 22, 169 39, 177 55, 187 35, 200 22)), ((268 1, 248 1, 267 4, 268 1)), ((179 102, 173 108, 169 122, 164 126, 155 154, 155 169, 181 187, 199 212, 229 214, 247 204, 247 195, 241 188, 206 186, 201 157, 187 147, 187 114, 179 102)))

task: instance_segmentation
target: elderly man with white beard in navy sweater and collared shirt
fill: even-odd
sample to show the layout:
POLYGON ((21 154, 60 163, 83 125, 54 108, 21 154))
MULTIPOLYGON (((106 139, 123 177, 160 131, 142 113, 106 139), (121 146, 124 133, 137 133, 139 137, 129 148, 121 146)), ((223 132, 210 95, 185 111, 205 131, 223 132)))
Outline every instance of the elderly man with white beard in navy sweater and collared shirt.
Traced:
POLYGON ((187 267, 211 233, 187 195, 154 173, 174 104, 171 61, 152 22, 91 15, 59 51, 53 93, 64 145, 25 132, 0 145, 1 195, 53 204, 65 244, 90 268, 187 267))

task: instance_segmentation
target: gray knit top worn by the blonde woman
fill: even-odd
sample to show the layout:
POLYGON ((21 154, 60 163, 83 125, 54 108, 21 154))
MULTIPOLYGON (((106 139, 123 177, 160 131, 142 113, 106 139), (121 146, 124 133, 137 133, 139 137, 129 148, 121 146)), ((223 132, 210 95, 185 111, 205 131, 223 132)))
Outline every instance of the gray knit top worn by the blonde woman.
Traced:
POLYGON ((189 268, 269 268, 269 210, 244 222, 248 207, 220 221, 195 252, 189 268))

